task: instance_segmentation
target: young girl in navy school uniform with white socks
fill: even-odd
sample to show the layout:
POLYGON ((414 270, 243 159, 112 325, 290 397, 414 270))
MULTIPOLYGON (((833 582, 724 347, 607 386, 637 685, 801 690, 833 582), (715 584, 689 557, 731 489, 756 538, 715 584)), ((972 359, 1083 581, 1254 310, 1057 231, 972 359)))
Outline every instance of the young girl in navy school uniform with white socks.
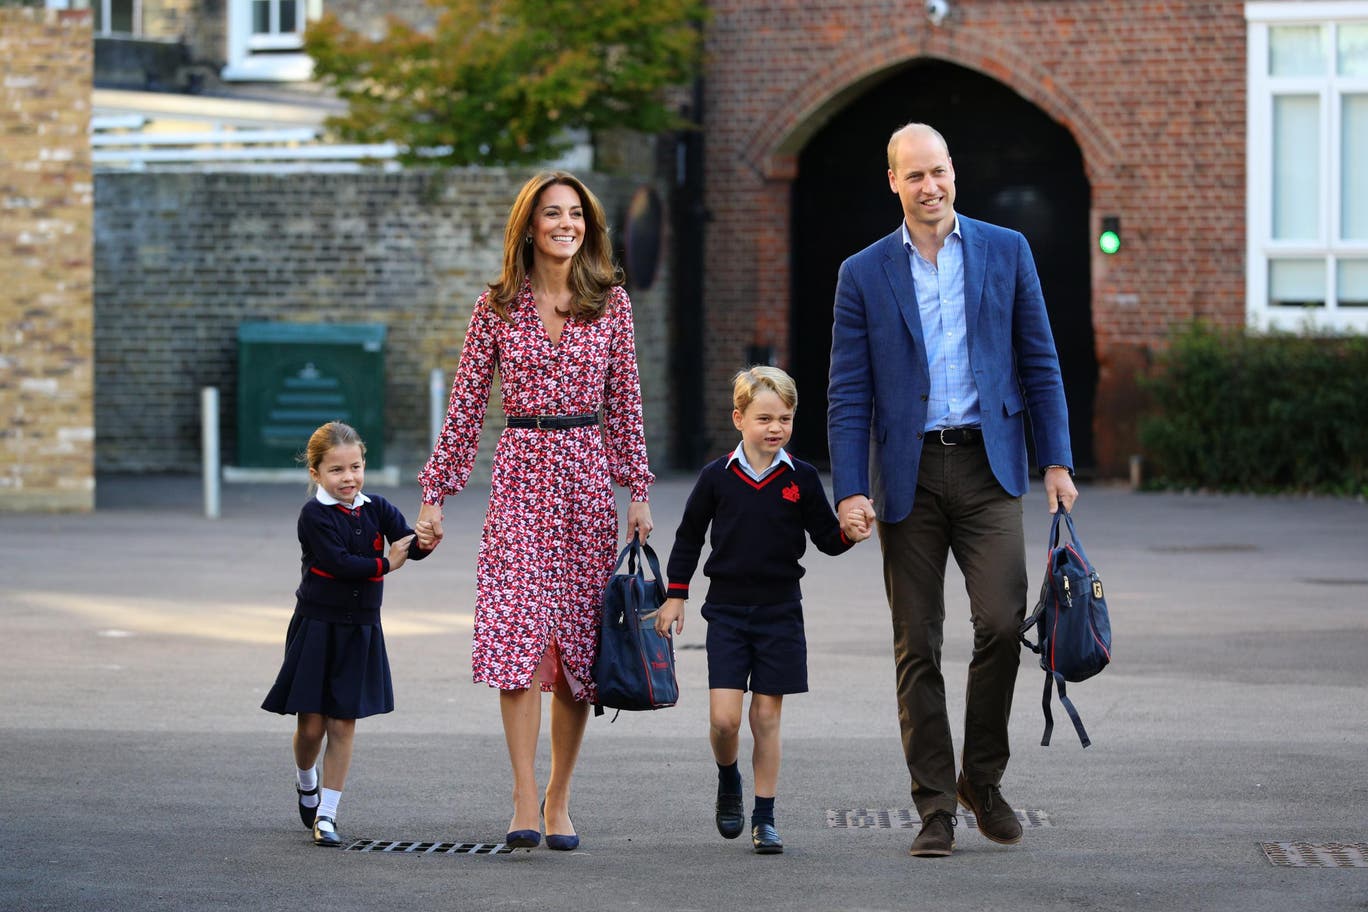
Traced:
POLYGON ((305 450, 313 496, 300 510, 304 551, 285 662, 261 708, 297 714, 295 792, 315 845, 337 846, 338 801, 352 764, 356 721, 394 710, 380 630, 384 574, 428 555, 398 507, 361 494, 365 443, 341 421, 324 424, 305 450), (389 552, 386 554, 386 541, 389 552), (315 763, 327 738, 323 782, 315 763))

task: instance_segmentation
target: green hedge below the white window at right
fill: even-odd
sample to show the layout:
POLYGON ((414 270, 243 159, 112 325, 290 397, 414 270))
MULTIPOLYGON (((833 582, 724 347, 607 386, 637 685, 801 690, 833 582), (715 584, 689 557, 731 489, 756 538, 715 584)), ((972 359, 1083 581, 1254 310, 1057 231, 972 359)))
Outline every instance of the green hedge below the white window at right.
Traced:
POLYGON ((1368 338, 1192 324, 1141 379, 1150 484, 1368 494, 1368 338))

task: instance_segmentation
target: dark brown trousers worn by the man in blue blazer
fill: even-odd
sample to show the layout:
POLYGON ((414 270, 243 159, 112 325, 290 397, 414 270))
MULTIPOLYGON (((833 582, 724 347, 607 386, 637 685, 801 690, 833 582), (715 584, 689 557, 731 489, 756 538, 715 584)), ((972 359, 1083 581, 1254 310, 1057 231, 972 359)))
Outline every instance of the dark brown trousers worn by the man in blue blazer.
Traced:
POLYGON ((955 745, 941 675, 945 559, 953 552, 964 574, 974 625, 962 768, 975 785, 999 785, 1011 753, 1007 719, 1021 662, 1016 630, 1026 615, 1022 499, 997 484, 982 444, 928 442, 912 511, 900 522, 880 522, 878 540, 912 801, 923 819, 933 811, 955 814, 955 745))

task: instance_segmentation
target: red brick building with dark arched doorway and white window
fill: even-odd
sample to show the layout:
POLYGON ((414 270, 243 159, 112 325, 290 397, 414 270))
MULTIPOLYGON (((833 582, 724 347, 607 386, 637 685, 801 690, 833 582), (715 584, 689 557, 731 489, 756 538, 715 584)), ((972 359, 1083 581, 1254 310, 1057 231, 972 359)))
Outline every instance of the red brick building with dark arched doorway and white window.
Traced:
POLYGON ((1368 328, 1368 3, 715 0, 702 394, 772 356, 825 453, 840 261, 897 226, 885 144, 937 126, 956 208, 1036 252, 1075 458, 1123 474, 1135 376, 1194 317, 1368 328), (1099 252, 1104 217, 1122 247, 1099 252))

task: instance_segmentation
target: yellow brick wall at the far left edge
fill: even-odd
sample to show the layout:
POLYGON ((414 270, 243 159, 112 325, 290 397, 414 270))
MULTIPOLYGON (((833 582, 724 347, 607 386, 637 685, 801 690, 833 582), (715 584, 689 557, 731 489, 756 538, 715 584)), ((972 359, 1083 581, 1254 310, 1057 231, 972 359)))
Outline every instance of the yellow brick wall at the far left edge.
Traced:
POLYGON ((92 46, 0 7, 0 511, 94 506, 92 46))

